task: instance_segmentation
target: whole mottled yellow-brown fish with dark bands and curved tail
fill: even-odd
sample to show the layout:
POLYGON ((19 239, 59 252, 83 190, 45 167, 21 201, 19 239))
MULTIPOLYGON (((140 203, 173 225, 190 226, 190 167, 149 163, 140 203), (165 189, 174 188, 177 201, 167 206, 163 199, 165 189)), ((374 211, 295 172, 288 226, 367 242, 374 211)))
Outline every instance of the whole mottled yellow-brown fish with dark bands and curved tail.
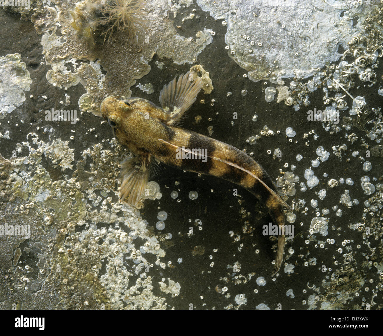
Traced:
POLYGON ((231 181, 259 199, 273 223, 278 225, 280 235, 274 276, 283 261, 284 208, 290 209, 290 206, 278 195, 270 176, 252 157, 229 144, 178 125, 201 87, 202 79, 193 80, 193 75, 187 72, 164 85, 159 96, 161 106, 137 97, 111 95, 103 99, 100 105, 103 119, 118 142, 134 155, 120 164, 120 199, 137 207, 156 162, 231 181), (205 153, 201 153, 201 149, 205 149, 205 153))

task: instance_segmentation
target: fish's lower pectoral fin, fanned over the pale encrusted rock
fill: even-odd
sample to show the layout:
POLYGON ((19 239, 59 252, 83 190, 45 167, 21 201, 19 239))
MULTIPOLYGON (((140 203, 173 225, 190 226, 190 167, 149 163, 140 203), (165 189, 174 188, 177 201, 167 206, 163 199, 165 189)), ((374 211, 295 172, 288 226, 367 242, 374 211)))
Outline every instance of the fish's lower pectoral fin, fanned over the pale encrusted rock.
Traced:
POLYGON ((145 192, 149 180, 149 156, 136 156, 125 159, 121 165, 120 199, 136 206, 145 192))

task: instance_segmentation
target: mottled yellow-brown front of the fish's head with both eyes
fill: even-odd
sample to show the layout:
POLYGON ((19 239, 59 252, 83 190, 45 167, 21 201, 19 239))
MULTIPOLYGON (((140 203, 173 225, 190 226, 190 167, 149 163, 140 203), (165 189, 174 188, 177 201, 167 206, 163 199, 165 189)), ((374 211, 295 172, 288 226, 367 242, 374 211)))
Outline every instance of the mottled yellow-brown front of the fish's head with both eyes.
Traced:
POLYGON ((102 117, 108 121, 110 127, 113 130, 121 126, 123 119, 131 112, 134 108, 129 103, 129 98, 124 96, 113 95, 106 97, 100 106, 102 117))

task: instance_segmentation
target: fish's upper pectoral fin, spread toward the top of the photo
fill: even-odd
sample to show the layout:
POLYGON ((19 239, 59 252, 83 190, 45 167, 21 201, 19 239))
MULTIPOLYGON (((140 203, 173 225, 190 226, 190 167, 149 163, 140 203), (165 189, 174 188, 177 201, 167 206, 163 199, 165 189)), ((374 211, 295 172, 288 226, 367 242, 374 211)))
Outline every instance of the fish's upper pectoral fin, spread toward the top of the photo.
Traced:
POLYGON ((167 111, 168 125, 178 121, 182 114, 190 108, 191 104, 197 99, 198 92, 202 86, 201 78, 194 81, 189 80, 189 72, 176 77, 160 92, 160 103, 162 108, 167 111))

